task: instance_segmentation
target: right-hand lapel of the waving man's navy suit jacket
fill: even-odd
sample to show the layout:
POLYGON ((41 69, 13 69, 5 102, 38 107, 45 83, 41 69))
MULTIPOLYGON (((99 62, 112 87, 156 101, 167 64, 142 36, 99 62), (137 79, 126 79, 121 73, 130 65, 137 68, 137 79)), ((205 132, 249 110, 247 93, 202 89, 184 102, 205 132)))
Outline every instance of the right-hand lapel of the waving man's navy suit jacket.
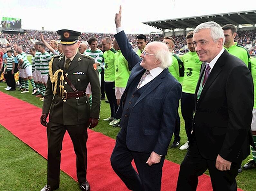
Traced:
MULTIPOLYGON (((155 79, 153 79, 152 83, 145 89, 145 91, 139 96, 137 102, 134 104, 134 106, 140 102, 144 97, 146 97, 151 91, 153 91, 157 86, 159 86, 160 83, 162 83, 163 78, 165 78, 166 73, 168 72, 168 69, 163 70, 158 76, 156 76, 155 79)), ((133 107, 134 107, 133 106, 133 107)))

